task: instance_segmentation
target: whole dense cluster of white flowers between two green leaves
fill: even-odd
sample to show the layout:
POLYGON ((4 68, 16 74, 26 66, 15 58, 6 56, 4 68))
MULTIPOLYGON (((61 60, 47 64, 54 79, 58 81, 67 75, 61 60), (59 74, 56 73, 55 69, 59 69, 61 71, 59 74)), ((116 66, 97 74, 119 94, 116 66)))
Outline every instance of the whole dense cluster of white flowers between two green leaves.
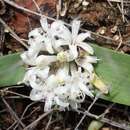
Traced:
POLYGON ((29 49, 21 54, 28 65, 23 82, 32 87, 30 99, 45 102, 44 110, 77 109, 85 96, 93 97, 93 48, 85 42, 90 33, 80 33, 80 21, 72 22, 71 31, 64 22, 48 24, 29 33, 29 49))

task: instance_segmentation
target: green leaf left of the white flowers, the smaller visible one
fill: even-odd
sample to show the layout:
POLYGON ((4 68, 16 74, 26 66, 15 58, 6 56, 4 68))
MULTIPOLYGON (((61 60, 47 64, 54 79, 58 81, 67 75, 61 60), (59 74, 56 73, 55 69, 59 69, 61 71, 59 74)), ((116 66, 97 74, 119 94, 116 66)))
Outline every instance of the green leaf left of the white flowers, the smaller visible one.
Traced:
POLYGON ((24 74, 25 67, 19 53, 0 57, 0 87, 16 85, 24 74))

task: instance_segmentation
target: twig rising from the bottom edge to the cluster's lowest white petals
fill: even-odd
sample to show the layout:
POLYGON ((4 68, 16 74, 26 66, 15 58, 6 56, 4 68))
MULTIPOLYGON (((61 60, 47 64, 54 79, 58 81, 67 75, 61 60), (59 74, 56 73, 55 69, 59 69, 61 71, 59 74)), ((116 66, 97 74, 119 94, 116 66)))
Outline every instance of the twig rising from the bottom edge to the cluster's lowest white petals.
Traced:
POLYGON ((23 130, 28 130, 29 128, 33 128, 35 125, 37 125, 37 123, 42 120, 44 117, 46 117, 47 115, 49 115, 53 110, 50 110, 44 114, 42 114, 39 118, 37 118, 35 121, 33 121, 31 124, 29 124, 28 126, 26 126, 23 130))

